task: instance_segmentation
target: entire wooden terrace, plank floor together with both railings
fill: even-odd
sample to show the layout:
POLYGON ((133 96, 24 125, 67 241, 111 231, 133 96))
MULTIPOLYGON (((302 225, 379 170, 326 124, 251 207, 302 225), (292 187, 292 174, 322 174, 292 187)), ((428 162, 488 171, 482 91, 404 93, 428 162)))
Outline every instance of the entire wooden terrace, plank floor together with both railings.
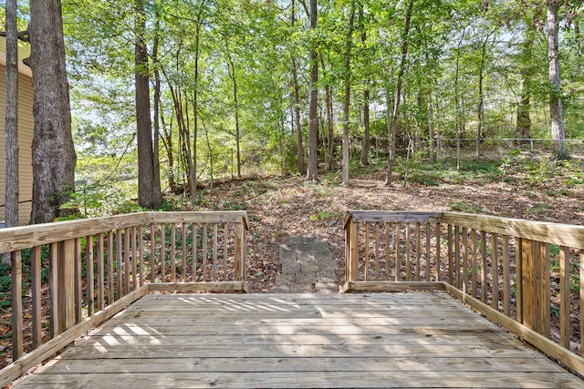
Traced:
POLYGON ((569 325, 582 323, 584 228, 427 212, 345 221, 351 293, 338 294, 227 294, 246 292, 245 212, 2 230, 13 278, 23 257, 31 266, 25 292, 13 285, 2 384, 59 352, 15 387, 583 386, 544 353, 584 373, 569 325))

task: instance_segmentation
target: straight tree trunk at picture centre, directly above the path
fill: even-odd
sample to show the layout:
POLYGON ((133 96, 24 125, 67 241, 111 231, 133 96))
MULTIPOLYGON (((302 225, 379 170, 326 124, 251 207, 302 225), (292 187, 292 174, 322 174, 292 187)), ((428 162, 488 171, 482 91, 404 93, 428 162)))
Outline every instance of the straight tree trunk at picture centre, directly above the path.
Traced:
MULTIPOLYGON (((317 28, 317 0, 310 0, 310 29, 317 28)), ((316 39, 316 38, 314 38, 316 39)), ((308 103, 307 180, 318 181, 318 53, 317 42, 310 44, 310 101, 308 103)))

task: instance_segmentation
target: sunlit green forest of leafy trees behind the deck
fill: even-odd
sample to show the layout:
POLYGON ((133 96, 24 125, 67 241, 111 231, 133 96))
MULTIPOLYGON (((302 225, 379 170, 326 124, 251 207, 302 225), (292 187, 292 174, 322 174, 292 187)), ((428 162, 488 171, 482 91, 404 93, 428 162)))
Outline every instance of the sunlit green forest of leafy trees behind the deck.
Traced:
POLYGON ((401 160, 448 148, 488 159, 532 139, 568 158, 584 134, 579 1, 65 0, 62 18, 77 151, 65 205, 95 215, 162 202, 140 196, 141 133, 154 172, 140 174, 160 171, 148 190, 193 204, 242 176, 342 169, 349 184, 374 163, 388 184, 401 160))

